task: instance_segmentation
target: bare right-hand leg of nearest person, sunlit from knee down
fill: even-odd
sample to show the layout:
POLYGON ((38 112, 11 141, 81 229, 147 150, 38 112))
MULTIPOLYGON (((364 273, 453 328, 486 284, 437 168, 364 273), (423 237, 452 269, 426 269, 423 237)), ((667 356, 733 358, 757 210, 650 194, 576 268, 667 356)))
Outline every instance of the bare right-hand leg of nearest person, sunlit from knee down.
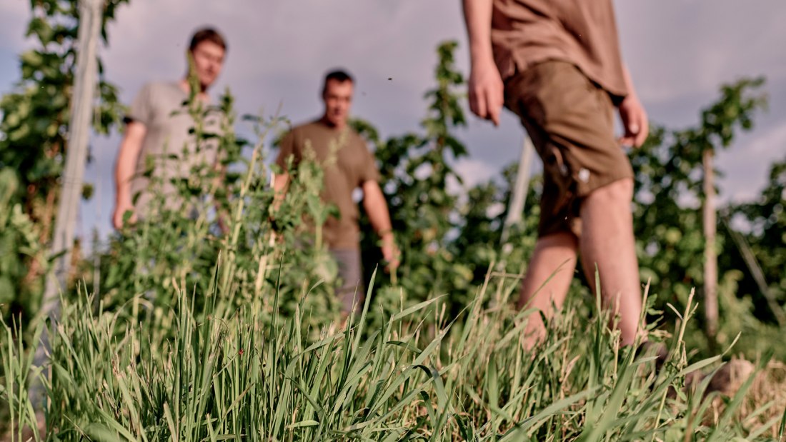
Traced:
POLYGON ((584 272, 594 292, 597 265, 604 306, 620 316, 623 345, 634 342, 641 315, 641 281, 630 212, 633 188, 630 178, 614 181, 587 195, 581 206, 584 272))

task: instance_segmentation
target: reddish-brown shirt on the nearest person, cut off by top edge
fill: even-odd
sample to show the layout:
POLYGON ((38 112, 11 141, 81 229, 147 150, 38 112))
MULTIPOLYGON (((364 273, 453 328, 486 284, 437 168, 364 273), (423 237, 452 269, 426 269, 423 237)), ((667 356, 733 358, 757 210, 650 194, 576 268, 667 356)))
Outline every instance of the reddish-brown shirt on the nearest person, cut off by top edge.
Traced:
POLYGON ((615 100, 627 95, 612 0, 494 0, 491 44, 503 79, 563 60, 615 100))

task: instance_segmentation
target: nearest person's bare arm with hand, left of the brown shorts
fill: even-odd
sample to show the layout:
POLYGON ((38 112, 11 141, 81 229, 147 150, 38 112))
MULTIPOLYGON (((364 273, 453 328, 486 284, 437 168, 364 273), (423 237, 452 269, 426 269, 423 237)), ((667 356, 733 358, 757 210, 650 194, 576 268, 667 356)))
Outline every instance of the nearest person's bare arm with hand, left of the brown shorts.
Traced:
POLYGON ((482 119, 499 124, 504 86, 491 52, 492 0, 463 0, 469 37, 469 108, 482 119))

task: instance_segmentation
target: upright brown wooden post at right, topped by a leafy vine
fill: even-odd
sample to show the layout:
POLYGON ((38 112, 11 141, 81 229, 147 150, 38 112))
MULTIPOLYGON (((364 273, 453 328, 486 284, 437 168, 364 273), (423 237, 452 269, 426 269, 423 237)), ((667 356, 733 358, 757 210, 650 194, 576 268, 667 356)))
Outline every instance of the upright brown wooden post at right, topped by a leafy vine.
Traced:
POLYGON ((704 168, 704 316, 707 320, 707 337, 714 345, 718 333, 718 251, 715 250, 715 231, 718 226, 715 212, 715 177, 712 166, 714 152, 705 149, 702 155, 704 168))

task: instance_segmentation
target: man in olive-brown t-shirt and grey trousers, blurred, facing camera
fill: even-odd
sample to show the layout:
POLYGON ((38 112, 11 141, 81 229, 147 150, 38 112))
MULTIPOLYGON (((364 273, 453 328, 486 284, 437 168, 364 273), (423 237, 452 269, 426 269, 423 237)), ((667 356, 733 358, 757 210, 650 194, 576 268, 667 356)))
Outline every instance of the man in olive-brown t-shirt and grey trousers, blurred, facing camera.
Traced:
MULTIPOLYGON (((332 71, 325 76, 322 100, 325 113, 320 119, 296 126, 281 141, 276 163, 286 170, 292 157, 298 163, 307 149, 313 151, 324 173, 321 199, 335 204, 339 217, 329 217, 323 227, 323 237, 339 267, 338 295, 342 313, 347 315, 363 299, 362 266, 360 256, 360 228, 358 205, 352 199, 356 188, 363 191, 363 207, 369 221, 380 236, 382 255, 391 268, 398 266, 399 251, 391 231, 379 172, 374 157, 362 137, 347 125, 354 92, 354 80, 345 71, 332 71)), ((277 197, 281 198, 289 182, 288 174, 279 174, 274 181, 277 197)))

